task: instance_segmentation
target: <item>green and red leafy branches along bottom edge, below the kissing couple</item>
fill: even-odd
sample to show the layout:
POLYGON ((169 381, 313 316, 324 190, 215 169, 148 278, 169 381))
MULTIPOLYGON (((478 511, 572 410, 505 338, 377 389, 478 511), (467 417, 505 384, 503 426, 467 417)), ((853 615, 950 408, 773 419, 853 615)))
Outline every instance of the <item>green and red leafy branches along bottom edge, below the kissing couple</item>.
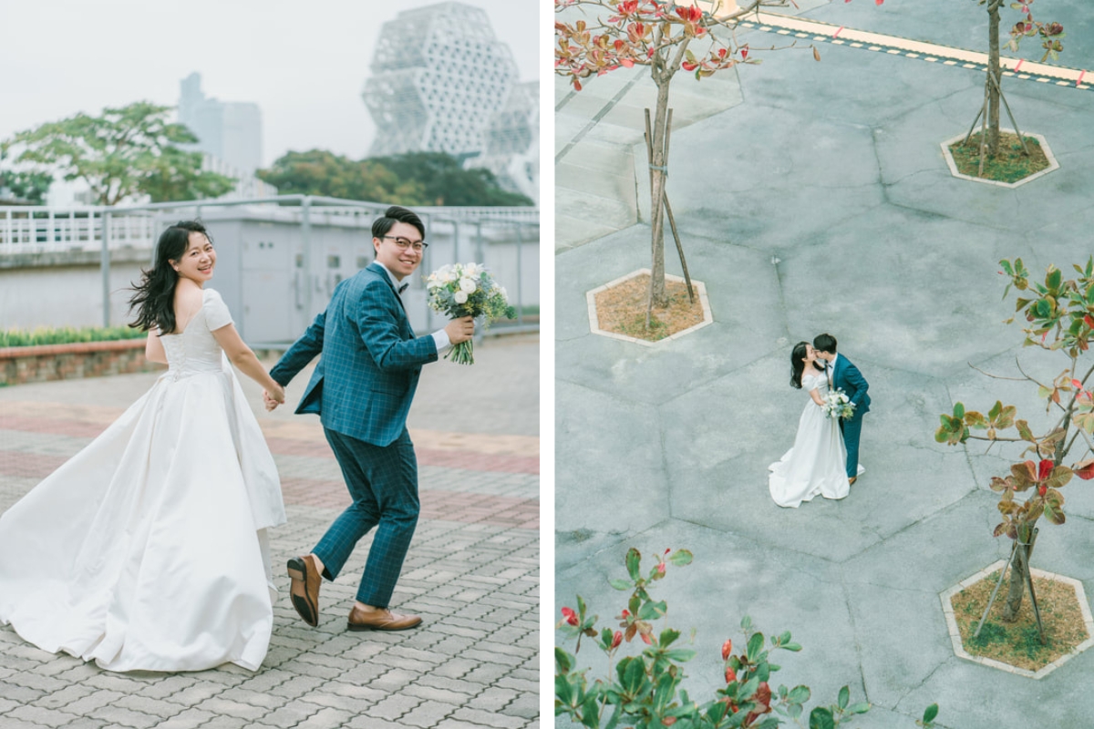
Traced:
MULTIPOLYGON (((725 687, 703 704, 694 702, 682 687, 685 678, 682 665, 691 660, 695 650, 678 644, 679 631, 667 626, 668 605, 664 600, 654 600, 649 589, 664 578, 668 564, 684 566, 690 562, 691 553, 687 550, 665 551, 643 577, 641 555, 631 548, 626 557, 629 578, 612 580, 616 589, 631 590, 627 608, 617 616, 619 630, 597 628, 598 618, 589 614, 581 596, 577 598, 577 611, 562 608, 557 630, 563 639, 577 639, 574 652, 581 649, 582 638, 590 639, 607 656, 608 671, 605 679, 590 683, 585 675, 589 669, 575 668, 574 656, 556 646, 556 716, 569 716, 575 724, 591 729, 770 729, 781 726, 784 718, 802 726, 799 719, 811 696, 808 686, 788 689, 780 685, 772 690, 768 683, 771 674, 781 668, 770 662, 771 651, 799 651, 802 647, 793 642, 789 631, 765 639, 763 633, 753 628, 748 616, 741 621, 744 650, 734 654, 732 639, 722 644, 725 687), (666 624, 657 632, 653 622, 663 618, 666 624), (622 645, 636 637, 644 644, 642 651, 617 660, 622 645)), ((834 729, 870 709, 870 704, 852 704, 850 698, 850 689, 843 686, 835 704, 813 708, 808 715, 810 729, 834 729)), ((926 724, 921 726, 930 727, 936 713, 936 706, 933 713, 928 709, 923 716, 926 724)))

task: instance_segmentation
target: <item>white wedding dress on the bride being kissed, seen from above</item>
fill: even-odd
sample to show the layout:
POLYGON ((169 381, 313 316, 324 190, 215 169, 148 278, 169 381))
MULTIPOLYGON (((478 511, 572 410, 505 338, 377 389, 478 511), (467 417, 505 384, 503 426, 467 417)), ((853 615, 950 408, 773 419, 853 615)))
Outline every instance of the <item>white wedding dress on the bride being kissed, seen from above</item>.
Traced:
MULTIPOLYGON (((823 398, 828 391, 824 373, 804 374, 802 390, 817 390, 823 398)), ((843 498, 851 486, 847 478, 847 447, 839 422, 824 414, 813 398, 798 420, 794 445, 781 459, 767 467, 768 490, 779 506, 796 508, 802 502, 821 495, 843 498)), ((859 466, 859 473, 865 469, 859 466)))

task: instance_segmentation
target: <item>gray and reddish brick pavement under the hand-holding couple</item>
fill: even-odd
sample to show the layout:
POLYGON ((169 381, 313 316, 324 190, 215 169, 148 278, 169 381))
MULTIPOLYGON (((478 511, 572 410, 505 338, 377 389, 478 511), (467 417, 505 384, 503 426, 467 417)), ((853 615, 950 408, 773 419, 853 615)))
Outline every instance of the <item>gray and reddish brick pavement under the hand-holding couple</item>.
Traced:
MULTIPOLYGON (((420 613, 421 628, 345 631, 369 538, 344 576, 324 585, 319 626, 299 620, 277 565, 306 552, 349 496, 318 419, 261 411, 289 516, 271 530, 282 599, 261 670, 109 673, 4 627, 0 728, 537 727, 538 338, 487 339, 476 349, 473 367, 426 368, 410 415, 422 512, 393 604, 420 613)), ((290 386, 290 402, 309 374, 290 386)), ((0 389, 0 509, 101 433, 155 376, 0 389)), ((258 388, 243 386, 258 412, 258 388)))

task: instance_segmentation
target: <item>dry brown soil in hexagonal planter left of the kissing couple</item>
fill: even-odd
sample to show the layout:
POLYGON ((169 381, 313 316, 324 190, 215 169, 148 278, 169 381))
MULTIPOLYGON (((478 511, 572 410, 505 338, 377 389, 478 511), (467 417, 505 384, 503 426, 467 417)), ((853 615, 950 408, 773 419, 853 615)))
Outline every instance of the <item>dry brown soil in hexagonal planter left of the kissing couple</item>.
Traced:
MULTIPOLYGON (((693 286, 693 290, 695 287, 693 286)), ((650 294, 649 274, 627 279, 596 294, 596 320, 604 331, 656 342, 702 322, 702 303, 695 291, 695 303, 687 296, 683 281, 665 281, 667 308, 653 307, 650 328, 645 328, 645 308, 650 294)))

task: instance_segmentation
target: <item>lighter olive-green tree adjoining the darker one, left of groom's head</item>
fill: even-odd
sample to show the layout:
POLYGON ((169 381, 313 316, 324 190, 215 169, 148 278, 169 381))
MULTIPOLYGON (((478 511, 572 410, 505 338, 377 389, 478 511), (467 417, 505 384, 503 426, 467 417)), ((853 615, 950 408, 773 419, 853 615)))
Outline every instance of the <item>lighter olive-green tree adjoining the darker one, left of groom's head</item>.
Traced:
POLYGON ((345 200, 399 200, 417 205, 426 202, 424 188, 400 179, 375 160, 354 162, 327 152, 289 152, 269 169, 258 171, 259 179, 283 195, 321 195, 345 200))

